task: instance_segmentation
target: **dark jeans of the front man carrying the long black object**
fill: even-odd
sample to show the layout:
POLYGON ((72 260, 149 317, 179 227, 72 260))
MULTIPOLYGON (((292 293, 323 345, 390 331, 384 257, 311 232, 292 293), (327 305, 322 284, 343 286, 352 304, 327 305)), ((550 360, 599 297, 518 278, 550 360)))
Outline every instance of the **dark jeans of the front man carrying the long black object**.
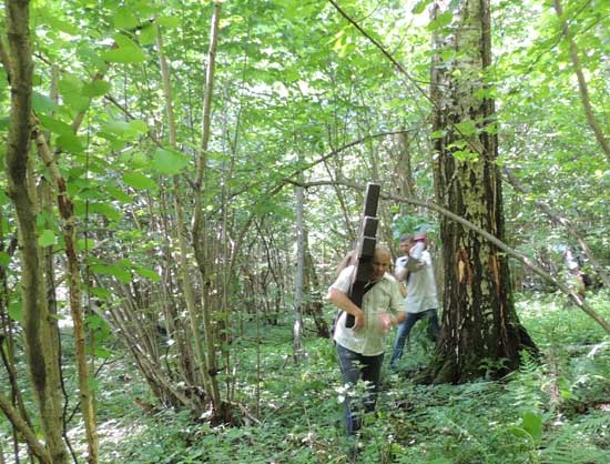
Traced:
POLYGON ((363 399, 345 397, 345 424, 347 434, 353 435, 362 426, 362 406, 367 412, 375 410, 384 353, 378 356, 363 356, 337 344, 337 355, 344 383, 356 385, 359 379, 370 382, 368 393, 363 399), (362 405, 362 406, 360 406, 362 405))

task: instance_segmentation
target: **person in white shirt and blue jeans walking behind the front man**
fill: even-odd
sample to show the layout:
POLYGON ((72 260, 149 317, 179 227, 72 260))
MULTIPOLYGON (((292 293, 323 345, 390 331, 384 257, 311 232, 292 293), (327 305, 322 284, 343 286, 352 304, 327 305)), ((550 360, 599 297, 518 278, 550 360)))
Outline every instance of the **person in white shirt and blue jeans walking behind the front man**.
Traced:
POLYGON ((398 333, 394 342, 394 352, 389 361, 390 369, 396 369, 397 362, 403 357, 405 341, 417 321, 428 317, 430 333, 436 341, 440 332, 438 325, 438 296, 434 276, 433 260, 427 251, 428 236, 425 232, 415 235, 400 236, 400 249, 405 253, 396 260, 395 275, 406 282, 407 296, 405 322, 398 325, 398 333))

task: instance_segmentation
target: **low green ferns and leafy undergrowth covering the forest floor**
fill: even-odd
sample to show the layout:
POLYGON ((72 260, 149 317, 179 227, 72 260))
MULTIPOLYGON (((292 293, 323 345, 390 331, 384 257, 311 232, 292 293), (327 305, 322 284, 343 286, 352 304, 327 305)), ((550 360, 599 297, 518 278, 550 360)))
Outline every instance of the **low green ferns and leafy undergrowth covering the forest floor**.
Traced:
MULTIPOLYGON (((608 295, 590 304, 610 319, 608 295)), ((356 444, 344 436, 339 372, 333 343, 306 337, 307 356, 292 359, 288 325, 265 329, 256 346, 241 341, 236 401, 243 426, 211 427, 187 412, 146 414, 142 394, 118 377, 101 397, 104 463, 607 463, 610 462, 610 337, 582 311, 555 297, 517 302, 521 322, 543 355, 492 382, 417 385, 431 349, 417 324, 398 373, 384 372, 377 410, 356 444), (123 414, 119 414, 123 411, 123 414)), ((388 349, 392 340, 388 340, 388 349)), ((387 364, 386 360, 386 364, 387 364)))

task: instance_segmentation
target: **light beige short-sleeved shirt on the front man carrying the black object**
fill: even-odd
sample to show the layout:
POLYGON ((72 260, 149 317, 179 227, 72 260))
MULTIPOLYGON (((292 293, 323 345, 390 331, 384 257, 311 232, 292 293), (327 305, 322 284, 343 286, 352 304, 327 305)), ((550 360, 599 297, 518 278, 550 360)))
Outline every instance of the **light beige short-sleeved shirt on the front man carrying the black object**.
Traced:
MULTIPOLYGON (((331 288, 347 294, 353 272, 353 265, 345 268, 331 288)), ((382 354, 385 351, 387 331, 384 330, 380 315, 389 313, 396 316, 398 312, 404 311, 403 304, 398 281, 386 272, 363 297, 360 309, 364 312, 365 325, 357 330, 347 329, 347 313, 344 311, 337 321, 335 342, 364 356, 382 354)))

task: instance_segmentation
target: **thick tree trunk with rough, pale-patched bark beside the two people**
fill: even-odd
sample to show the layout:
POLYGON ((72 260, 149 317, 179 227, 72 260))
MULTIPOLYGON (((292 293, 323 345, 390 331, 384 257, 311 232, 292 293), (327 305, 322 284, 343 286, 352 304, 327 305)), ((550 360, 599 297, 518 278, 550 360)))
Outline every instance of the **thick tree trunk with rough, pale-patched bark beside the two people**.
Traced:
MULTIPOLYGON (((436 1, 433 20, 447 8, 447 2, 436 1)), ((490 63, 489 1, 461 0, 453 14, 450 31, 434 37, 438 52, 431 68, 437 201, 504 240, 495 107, 481 78, 490 63), (451 50, 453 59, 440 58, 440 51, 451 50)), ((519 351, 535 345, 515 312, 506 255, 445 216, 440 235, 445 311, 430 379, 459 383, 517 369, 519 351)))

